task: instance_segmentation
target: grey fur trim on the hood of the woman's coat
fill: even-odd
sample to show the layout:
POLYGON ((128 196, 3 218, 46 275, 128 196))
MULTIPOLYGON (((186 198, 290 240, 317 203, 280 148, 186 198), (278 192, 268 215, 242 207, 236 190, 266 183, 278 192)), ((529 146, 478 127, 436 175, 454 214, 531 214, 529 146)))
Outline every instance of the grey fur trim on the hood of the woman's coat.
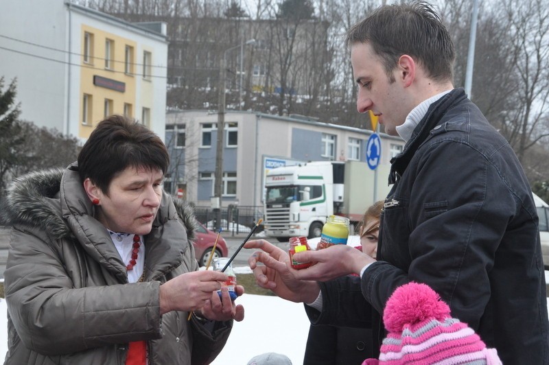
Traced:
MULTIPOLYGON (((38 228, 47 231, 52 239, 71 236, 71 228, 63 217, 60 202, 62 179, 67 170, 78 171, 78 165, 73 163, 67 169, 47 169, 16 178, 6 191, 1 213, 3 224, 21 224, 38 228)), ((87 200, 84 198, 83 187, 81 191, 72 193, 82 195, 81 204, 87 200)), ((192 241, 196 232, 196 218, 192 205, 168 193, 164 193, 163 200, 172 200, 178 216, 187 228, 187 238, 192 241)), ((86 206, 74 208, 76 211, 93 215, 91 202, 84 205, 86 206)), ((156 220, 159 220, 159 217, 156 220)))

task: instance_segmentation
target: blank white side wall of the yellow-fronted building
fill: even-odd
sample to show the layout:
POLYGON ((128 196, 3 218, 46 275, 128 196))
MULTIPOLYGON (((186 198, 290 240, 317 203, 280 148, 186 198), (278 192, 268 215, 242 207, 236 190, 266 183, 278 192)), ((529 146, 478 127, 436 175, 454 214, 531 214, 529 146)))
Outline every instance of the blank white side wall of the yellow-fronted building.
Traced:
POLYGON ((65 14, 65 5, 59 0, 0 3, 0 76, 5 78, 4 87, 17 78, 21 119, 58 130, 63 128, 67 103, 65 14))

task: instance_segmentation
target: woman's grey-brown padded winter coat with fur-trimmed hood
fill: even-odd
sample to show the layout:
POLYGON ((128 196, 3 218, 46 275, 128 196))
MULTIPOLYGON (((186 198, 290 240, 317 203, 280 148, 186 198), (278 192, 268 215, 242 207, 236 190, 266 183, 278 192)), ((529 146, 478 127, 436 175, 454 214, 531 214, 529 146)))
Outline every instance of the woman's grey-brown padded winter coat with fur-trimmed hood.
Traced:
POLYGON ((149 365, 209 364, 220 353, 232 321, 215 322, 212 335, 188 312, 160 315, 160 285, 198 268, 186 204, 163 195, 145 237, 144 281, 130 284, 76 164, 19 178, 6 199, 5 364, 125 364, 137 340, 147 341, 149 365))

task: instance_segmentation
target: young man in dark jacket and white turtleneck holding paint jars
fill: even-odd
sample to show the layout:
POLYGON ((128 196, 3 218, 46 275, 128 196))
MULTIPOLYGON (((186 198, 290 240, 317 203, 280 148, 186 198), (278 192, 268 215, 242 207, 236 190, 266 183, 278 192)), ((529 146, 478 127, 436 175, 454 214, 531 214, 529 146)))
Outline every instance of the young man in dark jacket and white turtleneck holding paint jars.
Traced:
POLYGON ((309 303, 313 324, 372 325, 378 341, 389 296, 426 283, 504 364, 549 364, 532 192, 509 143, 454 89, 454 46, 439 16, 423 2, 383 6, 349 30, 347 44, 358 111, 406 140, 391 161, 378 261, 339 245, 294 256, 318 262, 294 271, 284 252, 253 242, 245 247, 263 249, 249 260, 257 281, 309 303), (345 279, 323 283, 349 272, 360 274, 363 298, 345 279))

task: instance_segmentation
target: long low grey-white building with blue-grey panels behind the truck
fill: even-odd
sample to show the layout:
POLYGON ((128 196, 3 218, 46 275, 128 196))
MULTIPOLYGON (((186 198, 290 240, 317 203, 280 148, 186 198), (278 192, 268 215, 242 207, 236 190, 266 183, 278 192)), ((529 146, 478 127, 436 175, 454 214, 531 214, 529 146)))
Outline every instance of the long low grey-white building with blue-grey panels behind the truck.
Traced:
MULTIPOLYGON (((366 116, 365 116, 366 117, 366 116)), ((371 130, 248 111, 225 115, 222 207, 263 204, 264 176, 278 165, 306 161, 366 161, 371 130)), ((207 110, 168 112, 165 142, 170 171, 164 188, 197 206, 209 207, 214 189, 217 113, 207 110)), ((387 186, 390 158, 404 140, 380 134, 381 158, 377 181, 387 186)), ((375 174, 371 171, 371 174, 375 174)), ((364 193, 369 187, 364 187, 364 193)))

